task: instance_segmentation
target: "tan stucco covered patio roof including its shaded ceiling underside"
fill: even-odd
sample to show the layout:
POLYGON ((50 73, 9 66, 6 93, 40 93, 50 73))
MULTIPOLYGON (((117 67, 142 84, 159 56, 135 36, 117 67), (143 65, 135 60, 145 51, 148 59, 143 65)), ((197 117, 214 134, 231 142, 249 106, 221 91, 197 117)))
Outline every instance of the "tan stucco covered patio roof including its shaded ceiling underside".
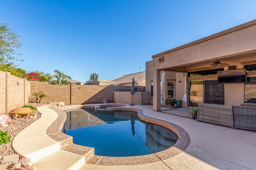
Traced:
MULTIPOLYGON (((171 72, 190 72, 210 69, 214 61, 229 63, 243 59, 240 64, 255 64, 256 20, 198 39, 191 43, 153 55, 153 60, 164 56, 158 69, 171 72), (168 61, 170 58, 171 61, 168 61), (246 60, 246 58, 248 58, 246 60), (178 61, 178 62, 177 62, 178 61), (164 64, 168 63, 168 65, 164 64)), ((158 63, 158 62, 157 62, 158 63)), ((217 66, 220 68, 223 66, 217 66)))

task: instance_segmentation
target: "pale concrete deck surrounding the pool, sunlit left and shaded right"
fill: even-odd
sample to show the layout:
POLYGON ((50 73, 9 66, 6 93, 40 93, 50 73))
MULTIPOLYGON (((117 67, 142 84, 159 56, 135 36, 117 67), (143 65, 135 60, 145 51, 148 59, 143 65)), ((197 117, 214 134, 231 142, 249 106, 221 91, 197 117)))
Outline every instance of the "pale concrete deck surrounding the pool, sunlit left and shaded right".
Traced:
MULTIPOLYGON (((20 132, 14 138, 12 145, 19 154, 31 157, 34 166, 38 170, 256 169, 255 131, 231 129, 210 123, 197 122, 191 119, 188 113, 189 110, 186 108, 170 109, 161 107, 161 112, 155 112, 152 111, 150 105, 126 105, 125 107, 141 109, 147 117, 161 119, 182 127, 190 136, 188 148, 185 151, 174 148, 173 150, 178 154, 168 159, 163 160, 162 155, 155 153, 144 160, 145 164, 130 165, 127 163, 130 157, 120 157, 120 159, 108 157, 105 159, 102 156, 90 155, 92 152, 90 149, 86 150, 89 154, 86 154, 82 149, 80 150, 82 154, 69 152, 72 147, 65 148, 65 143, 70 143, 70 139, 66 139, 65 142, 57 141, 47 133, 47 131, 49 132, 48 127, 54 124, 54 121, 58 118, 58 113, 50 109, 49 106, 38 107, 38 110, 43 113, 42 117, 20 132), (64 147, 65 150, 60 149, 61 147, 64 147), (88 155, 88 160, 86 160, 88 155), (150 162, 151 159, 154 159, 154 161, 150 162), (106 160, 108 162, 104 162, 106 160), (122 163, 124 160, 126 164, 122 163)), ((63 125, 59 124, 58 126, 63 125)), ((56 127, 56 131, 59 127, 56 127)), ((52 134, 54 133, 52 132, 52 134)), ((60 133, 58 134, 61 136, 60 133)), ((77 148, 77 146, 75 147, 77 148)))

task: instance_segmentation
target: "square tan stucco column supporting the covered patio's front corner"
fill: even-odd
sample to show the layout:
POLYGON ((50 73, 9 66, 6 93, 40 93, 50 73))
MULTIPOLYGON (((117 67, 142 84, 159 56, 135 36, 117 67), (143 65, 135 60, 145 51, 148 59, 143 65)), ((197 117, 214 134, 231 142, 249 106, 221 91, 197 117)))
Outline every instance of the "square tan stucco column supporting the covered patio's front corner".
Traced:
POLYGON ((161 111, 160 103, 160 70, 153 69, 153 111, 161 111))

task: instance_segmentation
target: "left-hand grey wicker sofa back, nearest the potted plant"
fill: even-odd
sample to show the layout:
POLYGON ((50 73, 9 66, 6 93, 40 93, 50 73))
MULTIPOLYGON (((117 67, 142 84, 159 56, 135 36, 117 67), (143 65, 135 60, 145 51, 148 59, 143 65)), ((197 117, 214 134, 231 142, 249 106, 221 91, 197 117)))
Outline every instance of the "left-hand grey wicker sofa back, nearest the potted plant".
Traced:
POLYGON ((223 125, 234 129, 233 106, 198 103, 198 112, 197 121, 223 125))

